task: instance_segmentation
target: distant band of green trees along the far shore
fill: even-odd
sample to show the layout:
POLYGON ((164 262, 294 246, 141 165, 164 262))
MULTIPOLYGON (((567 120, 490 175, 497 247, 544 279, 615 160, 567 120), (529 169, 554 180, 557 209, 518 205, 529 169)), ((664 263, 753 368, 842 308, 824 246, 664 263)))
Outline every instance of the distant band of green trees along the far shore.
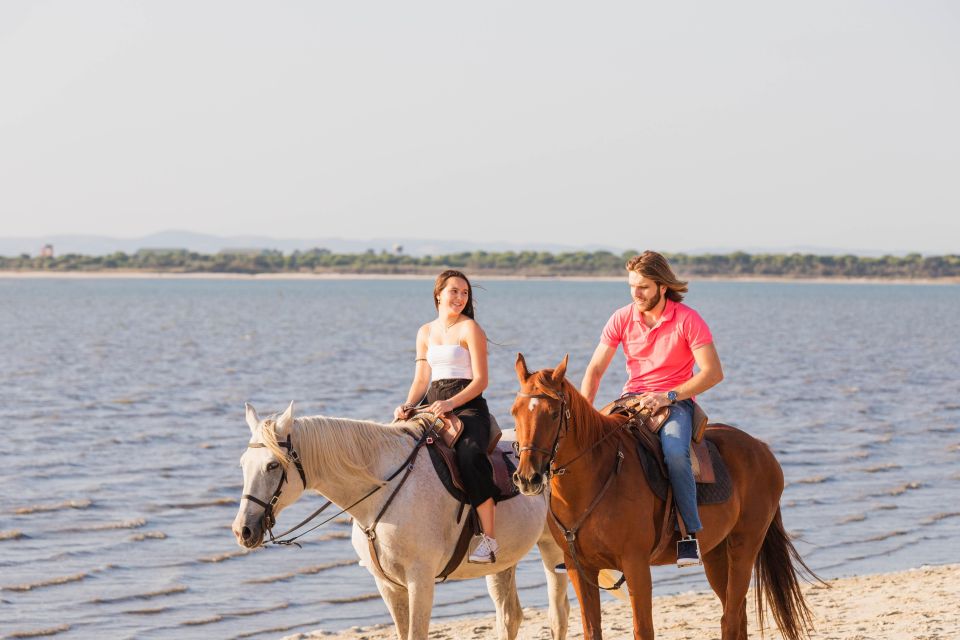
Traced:
MULTIPOLYGON (((104 256, 0 257, 5 271, 162 271, 169 273, 360 273, 433 274, 443 268, 469 273, 521 276, 619 276, 636 252, 473 251, 409 256, 368 250, 333 253, 310 249, 238 251, 216 254, 186 250, 141 250, 104 256)), ((960 255, 868 258, 812 254, 666 254, 683 276, 760 276, 784 278, 958 278, 960 255)))

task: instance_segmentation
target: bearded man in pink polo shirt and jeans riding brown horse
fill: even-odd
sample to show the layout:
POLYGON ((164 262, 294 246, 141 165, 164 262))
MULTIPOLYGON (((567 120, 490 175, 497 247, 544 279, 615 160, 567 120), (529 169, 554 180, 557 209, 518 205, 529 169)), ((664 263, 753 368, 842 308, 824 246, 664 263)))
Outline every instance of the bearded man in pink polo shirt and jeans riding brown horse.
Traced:
POLYGON ((663 456, 673 485, 674 500, 688 535, 677 544, 677 565, 700 564, 696 532, 702 529, 697 512, 697 485, 690 466, 693 399, 723 380, 713 336, 700 315, 681 304, 687 283, 678 280, 666 258, 645 251, 627 261, 627 282, 633 303, 607 321, 600 344, 587 366, 580 392, 592 403, 600 379, 623 345, 627 384, 623 395, 637 395, 641 405, 656 411, 672 405, 660 429, 663 456), (693 365, 700 369, 694 373, 693 365))

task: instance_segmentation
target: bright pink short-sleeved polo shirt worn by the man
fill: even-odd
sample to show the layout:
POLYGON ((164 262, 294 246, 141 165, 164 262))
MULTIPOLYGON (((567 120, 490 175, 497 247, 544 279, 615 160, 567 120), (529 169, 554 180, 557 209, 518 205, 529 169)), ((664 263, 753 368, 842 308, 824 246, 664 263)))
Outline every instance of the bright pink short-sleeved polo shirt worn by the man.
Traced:
POLYGON ((649 329, 635 304, 617 309, 600 342, 614 349, 623 345, 624 393, 664 393, 693 377, 693 351, 713 342, 713 336, 700 314, 682 302, 667 300, 660 320, 649 329))

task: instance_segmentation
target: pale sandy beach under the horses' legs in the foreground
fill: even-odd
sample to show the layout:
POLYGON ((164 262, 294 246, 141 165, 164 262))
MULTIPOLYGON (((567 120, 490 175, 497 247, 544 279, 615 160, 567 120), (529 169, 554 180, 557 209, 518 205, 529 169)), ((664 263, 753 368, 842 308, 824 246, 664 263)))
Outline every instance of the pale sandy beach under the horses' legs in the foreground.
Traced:
MULTIPOLYGON (((807 585, 807 602, 815 616, 813 640, 954 640, 960 638, 960 564, 927 566, 898 573, 840 578, 830 588, 807 585)), ((750 633, 760 637, 748 596, 750 633)), ((659 640, 707 640, 720 637, 720 602, 710 591, 655 598, 653 619, 659 640)), ((520 627, 522 640, 549 639, 545 611, 525 609, 520 627)), ((765 621, 770 623, 770 616, 765 621)), ((483 640, 494 638, 493 615, 468 620, 438 622, 430 627, 433 640, 483 640)), ((608 602, 603 608, 604 638, 629 640, 629 606, 608 602)), ((580 612, 571 602, 570 638, 582 638, 580 612)), ((766 638, 781 640, 776 629, 766 638)), ((340 633, 314 631, 286 636, 284 640, 395 640, 393 627, 354 627, 340 633)))

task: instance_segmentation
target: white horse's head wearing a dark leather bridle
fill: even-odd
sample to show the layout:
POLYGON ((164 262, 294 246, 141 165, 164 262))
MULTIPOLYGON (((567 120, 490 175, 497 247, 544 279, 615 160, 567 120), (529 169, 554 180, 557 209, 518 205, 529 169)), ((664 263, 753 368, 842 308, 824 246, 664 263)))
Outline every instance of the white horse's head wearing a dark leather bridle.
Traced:
POLYGON ((233 521, 233 535, 242 547, 258 547, 277 515, 303 493, 305 479, 290 440, 293 403, 283 415, 261 420, 247 404, 247 425, 252 437, 240 456, 243 498, 233 521))

